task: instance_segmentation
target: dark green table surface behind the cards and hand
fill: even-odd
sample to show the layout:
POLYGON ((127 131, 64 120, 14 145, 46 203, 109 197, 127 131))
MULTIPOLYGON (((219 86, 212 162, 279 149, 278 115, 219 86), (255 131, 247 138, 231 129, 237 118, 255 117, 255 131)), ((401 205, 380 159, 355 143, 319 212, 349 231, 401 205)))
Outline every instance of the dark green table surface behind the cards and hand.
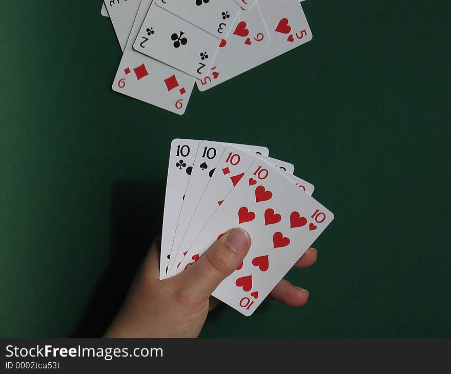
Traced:
POLYGON ((262 144, 335 214, 309 303, 203 337, 450 337, 451 6, 303 4, 314 39, 178 116, 111 91, 100 1, 2 2, 0 336, 99 336, 161 230, 169 144, 262 144))

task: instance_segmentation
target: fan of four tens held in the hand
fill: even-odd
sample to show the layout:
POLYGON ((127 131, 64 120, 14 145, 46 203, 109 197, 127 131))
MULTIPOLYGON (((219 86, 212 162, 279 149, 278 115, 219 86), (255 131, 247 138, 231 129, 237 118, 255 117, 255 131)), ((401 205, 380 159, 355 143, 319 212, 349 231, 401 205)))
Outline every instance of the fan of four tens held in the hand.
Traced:
POLYGON ((185 271, 222 234, 246 230, 251 249, 213 296, 250 316, 334 215, 313 184, 265 147, 208 140, 171 143, 160 279, 185 271))

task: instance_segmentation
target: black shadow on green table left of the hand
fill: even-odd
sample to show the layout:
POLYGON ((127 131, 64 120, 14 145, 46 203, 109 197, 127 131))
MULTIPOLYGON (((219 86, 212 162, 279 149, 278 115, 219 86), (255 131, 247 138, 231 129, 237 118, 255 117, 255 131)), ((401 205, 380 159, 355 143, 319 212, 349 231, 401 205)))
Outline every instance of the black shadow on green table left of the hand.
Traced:
POLYGON ((113 183, 109 263, 71 337, 100 337, 105 333, 152 240, 161 234, 164 201, 162 181, 113 183))

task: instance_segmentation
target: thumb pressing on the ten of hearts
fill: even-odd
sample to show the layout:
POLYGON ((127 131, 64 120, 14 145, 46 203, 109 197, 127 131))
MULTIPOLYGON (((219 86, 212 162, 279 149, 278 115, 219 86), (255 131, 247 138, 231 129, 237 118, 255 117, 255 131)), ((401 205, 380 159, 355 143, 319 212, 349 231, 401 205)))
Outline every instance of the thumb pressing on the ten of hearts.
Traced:
POLYGON ((209 250, 186 271, 179 274, 180 284, 191 295, 207 299, 225 278, 243 261, 251 247, 251 237, 241 228, 222 235, 209 250))

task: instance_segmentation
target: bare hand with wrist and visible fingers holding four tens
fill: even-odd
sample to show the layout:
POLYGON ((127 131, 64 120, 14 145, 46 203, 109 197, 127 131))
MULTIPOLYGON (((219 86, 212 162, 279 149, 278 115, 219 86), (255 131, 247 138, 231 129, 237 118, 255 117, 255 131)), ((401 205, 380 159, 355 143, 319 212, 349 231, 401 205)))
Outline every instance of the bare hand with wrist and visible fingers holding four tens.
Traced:
MULTIPOLYGON (((234 228, 219 238, 186 271, 159 280, 158 245, 154 242, 129 294, 105 338, 197 338, 209 311, 219 301, 211 297, 219 283, 239 266, 251 246, 247 232, 234 228)), ((309 248, 294 265, 311 266, 317 251, 309 248)), ((282 279, 270 298, 302 306, 309 292, 282 279)))

